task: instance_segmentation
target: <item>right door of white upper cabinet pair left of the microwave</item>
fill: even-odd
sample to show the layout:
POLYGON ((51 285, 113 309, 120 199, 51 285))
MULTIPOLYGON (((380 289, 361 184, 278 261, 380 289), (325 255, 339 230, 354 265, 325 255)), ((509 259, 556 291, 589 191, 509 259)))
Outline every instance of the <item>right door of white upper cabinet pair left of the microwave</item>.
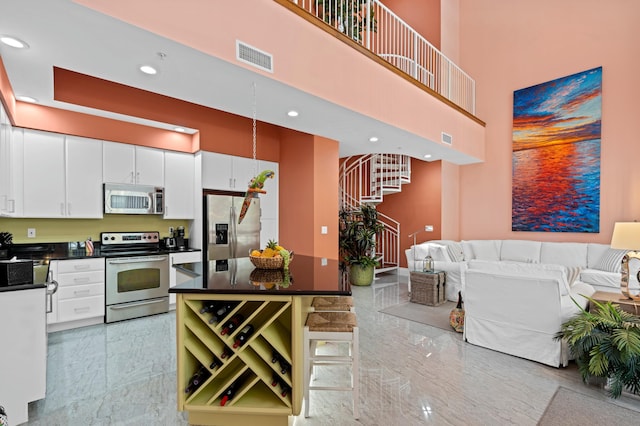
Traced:
POLYGON ((67 217, 101 218, 102 141, 66 136, 67 217))

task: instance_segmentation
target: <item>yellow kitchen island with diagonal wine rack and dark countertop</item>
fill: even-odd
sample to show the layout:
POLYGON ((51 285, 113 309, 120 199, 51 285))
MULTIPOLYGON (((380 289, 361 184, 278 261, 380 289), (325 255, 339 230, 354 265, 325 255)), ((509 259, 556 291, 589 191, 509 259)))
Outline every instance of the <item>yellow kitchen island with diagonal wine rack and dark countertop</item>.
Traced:
POLYGON ((296 255, 288 273, 255 269, 249 258, 183 267, 199 276, 170 289, 177 295, 178 410, 191 424, 287 425, 302 407, 311 301, 351 294, 338 261, 296 255))

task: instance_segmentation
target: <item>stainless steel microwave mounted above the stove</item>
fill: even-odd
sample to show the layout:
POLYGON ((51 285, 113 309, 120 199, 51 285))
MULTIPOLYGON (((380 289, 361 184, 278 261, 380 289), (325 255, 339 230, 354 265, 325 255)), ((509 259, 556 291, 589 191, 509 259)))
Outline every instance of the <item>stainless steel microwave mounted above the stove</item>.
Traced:
POLYGON ((149 185, 104 184, 104 212, 164 214, 164 188, 149 185))

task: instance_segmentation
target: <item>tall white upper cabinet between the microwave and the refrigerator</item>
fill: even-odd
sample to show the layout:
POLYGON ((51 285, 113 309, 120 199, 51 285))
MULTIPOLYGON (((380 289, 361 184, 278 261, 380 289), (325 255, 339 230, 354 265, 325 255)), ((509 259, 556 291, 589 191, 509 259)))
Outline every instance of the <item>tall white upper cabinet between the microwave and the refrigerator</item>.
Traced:
POLYGON ((164 153, 164 218, 193 219, 195 211, 193 154, 164 153))

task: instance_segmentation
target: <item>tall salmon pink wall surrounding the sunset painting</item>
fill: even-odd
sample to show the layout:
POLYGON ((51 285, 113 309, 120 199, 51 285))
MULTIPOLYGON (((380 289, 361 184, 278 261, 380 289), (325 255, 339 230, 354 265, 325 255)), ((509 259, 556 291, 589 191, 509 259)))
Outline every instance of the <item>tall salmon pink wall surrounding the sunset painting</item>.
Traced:
POLYGON ((636 0, 460 2, 461 66, 486 122, 482 164, 460 170, 460 235, 609 243, 614 222, 640 219, 636 0), (602 66, 600 233, 511 231, 513 92, 602 66))

